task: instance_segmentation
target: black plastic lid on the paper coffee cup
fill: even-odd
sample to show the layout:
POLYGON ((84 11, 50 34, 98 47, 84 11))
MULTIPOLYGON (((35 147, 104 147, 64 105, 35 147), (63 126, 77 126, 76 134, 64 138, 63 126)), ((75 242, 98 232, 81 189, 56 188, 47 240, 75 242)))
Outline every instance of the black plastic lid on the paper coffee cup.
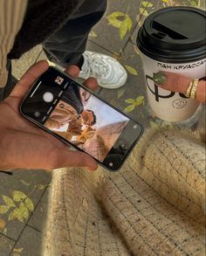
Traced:
POLYGON ((206 57, 206 12, 192 7, 154 11, 141 26, 141 52, 162 62, 192 62, 206 57))

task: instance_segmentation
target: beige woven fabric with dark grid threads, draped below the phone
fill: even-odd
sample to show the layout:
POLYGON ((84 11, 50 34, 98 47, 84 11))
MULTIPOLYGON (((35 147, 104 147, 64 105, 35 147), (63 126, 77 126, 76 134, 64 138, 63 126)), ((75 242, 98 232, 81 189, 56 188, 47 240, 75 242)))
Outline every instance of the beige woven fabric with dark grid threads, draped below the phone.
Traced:
POLYGON ((143 136, 123 168, 55 170, 44 255, 205 255, 205 148, 143 136))

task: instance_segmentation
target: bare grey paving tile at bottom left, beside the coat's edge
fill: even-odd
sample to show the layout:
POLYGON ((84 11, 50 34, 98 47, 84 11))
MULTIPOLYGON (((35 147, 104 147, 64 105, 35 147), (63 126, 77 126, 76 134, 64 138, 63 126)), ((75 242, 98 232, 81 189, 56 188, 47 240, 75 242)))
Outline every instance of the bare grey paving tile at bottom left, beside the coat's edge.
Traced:
POLYGON ((26 225, 21 237, 17 240, 13 252, 21 249, 21 256, 41 256, 42 234, 26 225))

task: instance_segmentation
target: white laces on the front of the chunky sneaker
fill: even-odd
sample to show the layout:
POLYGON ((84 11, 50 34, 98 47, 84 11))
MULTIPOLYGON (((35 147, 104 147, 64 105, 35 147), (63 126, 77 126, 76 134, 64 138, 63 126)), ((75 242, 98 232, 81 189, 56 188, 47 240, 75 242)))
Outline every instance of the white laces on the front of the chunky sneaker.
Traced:
POLYGON ((87 61, 90 76, 94 76, 95 78, 106 77, 106 74, 109 71, 109 66, 104 59, 95 56, 94 58, 88 58, 87 61))

